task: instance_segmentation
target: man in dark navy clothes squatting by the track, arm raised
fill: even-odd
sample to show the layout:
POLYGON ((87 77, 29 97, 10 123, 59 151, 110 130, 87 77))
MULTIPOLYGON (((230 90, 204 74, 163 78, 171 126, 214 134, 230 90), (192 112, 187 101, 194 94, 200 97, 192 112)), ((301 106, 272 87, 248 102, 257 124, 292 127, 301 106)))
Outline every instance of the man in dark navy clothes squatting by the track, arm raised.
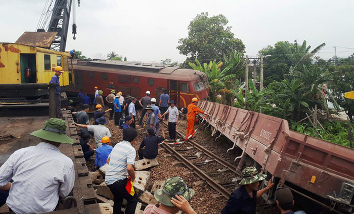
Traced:
POLYGON ((142 143, 139 146, 138 154, 139 154, 139 159, 148 158, 148 159, 153 159, 157 156, 158 154, 158 145, 159 143, 165 139, 165 132, 163 127, 161 127, 162 130, 162 137, 155 136, 154 130, 152 128, 148 129, 148 133, 146 138, 142 141, 142 143))

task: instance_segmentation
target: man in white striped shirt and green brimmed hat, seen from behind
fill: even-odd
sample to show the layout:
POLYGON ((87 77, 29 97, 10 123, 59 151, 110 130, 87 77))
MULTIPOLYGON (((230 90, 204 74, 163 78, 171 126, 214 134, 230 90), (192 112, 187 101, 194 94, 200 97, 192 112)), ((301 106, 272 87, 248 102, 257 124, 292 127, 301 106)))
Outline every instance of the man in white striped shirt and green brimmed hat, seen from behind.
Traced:
POLYGON ((36 146, 15 151, 0 168, 0 189, 11 185, 7 205, 17 214, 51 212, 59 196, 74 187, 74 164, 59 150, 61 143, 73 144, 65 135, 63 120, 50 118, 30 135, 41 139, 36 146), (12 184, 9 184, 10 180, 12 184))

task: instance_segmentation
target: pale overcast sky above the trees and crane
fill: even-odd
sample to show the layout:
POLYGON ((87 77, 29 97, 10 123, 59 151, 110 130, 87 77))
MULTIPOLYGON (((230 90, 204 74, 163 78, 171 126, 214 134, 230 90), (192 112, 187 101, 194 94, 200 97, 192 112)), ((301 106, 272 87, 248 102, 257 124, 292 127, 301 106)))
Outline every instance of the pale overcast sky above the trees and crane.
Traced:
MULTIPOLYGON (((6 1, 6 0, 2 0, 6 1)), ((55 0, 54 0, 55 1, 55 0)), ((24 31, 35 31, 46 0, 7 0, 0 13, 0 41, 15 42, 24 31)), ((236 38, 255 56, 261 48, 288 40, 326 47, 320 57, 347 57, 354 52, 354 1, 350 0, 81 0, 76 8, 77 36, 70 29, 66 49, 91 58, 115 51, 128 61, 183 62, 176 49, 188 36, 190 21, 201 12, 224 14, 236 38), (342 48, 347 47, 347 48, 342 48), (353 49, 348 49, 353 48, 353 49)))

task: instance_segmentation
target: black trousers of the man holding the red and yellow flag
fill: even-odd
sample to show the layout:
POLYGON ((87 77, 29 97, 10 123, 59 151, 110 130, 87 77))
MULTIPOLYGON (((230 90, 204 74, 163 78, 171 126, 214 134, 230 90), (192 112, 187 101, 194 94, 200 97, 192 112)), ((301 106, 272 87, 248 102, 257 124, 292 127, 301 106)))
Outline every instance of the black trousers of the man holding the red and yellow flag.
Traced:
POLYGON ((134 196, 130 195, 128 191, 126 191, 125 185, 126 179, 107 185, 114 196, 113 214, 121 213, 123 198, 128 202, 125 207, 125 214, 135 213, 135 208, 138 204, 138 194, 135 193, 134 196))

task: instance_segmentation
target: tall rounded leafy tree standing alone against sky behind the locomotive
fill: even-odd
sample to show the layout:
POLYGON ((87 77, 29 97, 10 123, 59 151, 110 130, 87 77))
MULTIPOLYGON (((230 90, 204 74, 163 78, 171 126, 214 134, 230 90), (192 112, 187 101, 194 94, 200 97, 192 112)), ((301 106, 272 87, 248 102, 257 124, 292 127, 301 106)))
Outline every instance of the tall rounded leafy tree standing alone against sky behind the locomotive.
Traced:
POLYGON ((188 37, 179 39, 177 49, 188 57, 187 62, 198 58, 202 63, 230 56, 235 50, 243 53, 245 45, 234 37, 227 24, 222 14, 212 17, 208 17, 208 13, 198 14, 188 26, 188 37))

